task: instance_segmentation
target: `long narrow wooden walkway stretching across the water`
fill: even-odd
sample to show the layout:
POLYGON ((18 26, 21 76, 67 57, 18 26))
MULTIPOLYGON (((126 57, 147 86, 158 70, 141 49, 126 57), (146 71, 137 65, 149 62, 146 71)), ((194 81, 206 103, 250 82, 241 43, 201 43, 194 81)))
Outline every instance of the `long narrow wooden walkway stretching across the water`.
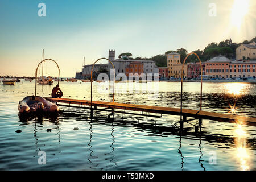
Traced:
MULTIPOLYGON (((48 97, 45 97, 45 98, 46 100, 49 100, 51 102, 90 106, 90 101, 88 100, 77 100, 77 99, 71 99, 71 98, 48 98, 48 97)), ((158 113, 158 114, 168 114, 168 115, 180 115, 180 109, 172 108, 172 107, 147 106, 147 105, 124 104, 120 102, 102 102, 102 101, 92 101, 92 106, 94 108, 105 107, 108 109, 141 111, 145 113, 147 112, 147 113, 158 113)), ((185 117, 209 119, 209 120, 222 121, 222 122, 238 121, 243 125, 256 126, 256 118, 250 118, 250 117, 245 117, 241 115, 221 114, 221 113, 213 113, 209 111, 200 111, 200 110, 191 110, 191 109, 183 109, 182 115, 185 117)))

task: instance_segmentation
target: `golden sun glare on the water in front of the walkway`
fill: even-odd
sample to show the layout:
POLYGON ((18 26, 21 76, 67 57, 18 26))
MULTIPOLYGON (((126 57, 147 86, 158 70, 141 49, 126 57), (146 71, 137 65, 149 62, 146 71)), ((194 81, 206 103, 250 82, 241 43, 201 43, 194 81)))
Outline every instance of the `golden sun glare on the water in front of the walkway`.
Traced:
POLYGON ((242 125, 237 124, 237 127, 235 129, 236 138, 234 140, 236 144, 236 159, 238 160, 238 163, 240 163, 240 168, 243 171, 249 170, 249 159, 250 155, 248 154, 247 148, 246 148, 246 132, 243 130, 242 125))

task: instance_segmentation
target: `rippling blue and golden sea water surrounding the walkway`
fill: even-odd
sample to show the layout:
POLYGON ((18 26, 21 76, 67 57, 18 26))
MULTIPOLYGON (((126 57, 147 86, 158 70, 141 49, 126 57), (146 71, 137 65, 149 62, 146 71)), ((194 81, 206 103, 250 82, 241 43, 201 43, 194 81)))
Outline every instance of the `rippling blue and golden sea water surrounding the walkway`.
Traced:
MULTIPOLYGON (((35 93, 35 83, 0 84, 1 170, 255 170, 255 127, 203 120, 184 124, 179 117, 162 118, 60 107, 55 118, 22 118, 20 100, 35 93), (77 127, 78 130, 74 130, 77 127), (51 131, 47 131, 51 129, 51 131), (17 133, 17 130, 22 132, 17 133), (46 165, 38 152, 46 152, 46 165)), ((39 96, 49 96, 53 85, 38 85, 39 96)), ((64 97, 90 100, 90 82, 60 82, 64 97)), ((93 82, 93 100, 110 101, 113 86, 93 82)), ((115 101, 132 104, 180 106, 180 83, 115 84, 115 101)), ((200 83, 184 83, 183 106, 200 107, 200 83)), ((203 110, 256 117, 256 85, 204 83, 203 110)), ((156 114, 157 115, 157 114, 156 114)))

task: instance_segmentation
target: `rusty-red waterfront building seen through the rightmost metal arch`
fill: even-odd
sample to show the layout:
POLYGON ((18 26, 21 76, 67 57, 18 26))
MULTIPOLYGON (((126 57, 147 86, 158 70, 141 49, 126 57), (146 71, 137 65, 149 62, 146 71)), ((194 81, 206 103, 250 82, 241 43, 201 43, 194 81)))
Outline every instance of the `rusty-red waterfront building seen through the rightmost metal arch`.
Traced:
MULTIPOLYGON (((203 75, 205 75, 205 63, 202 63, 203 75)), ((188 78, 200 78, 201 76, 201 66, 200 62, 197 63, 188 63, 188 78)))

